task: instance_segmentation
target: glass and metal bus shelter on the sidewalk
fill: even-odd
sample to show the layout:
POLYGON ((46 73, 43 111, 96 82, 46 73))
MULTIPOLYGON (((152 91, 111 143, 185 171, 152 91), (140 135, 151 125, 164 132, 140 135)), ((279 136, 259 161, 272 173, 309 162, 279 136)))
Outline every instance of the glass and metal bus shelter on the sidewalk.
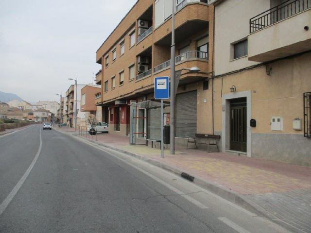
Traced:
POLYGON ((146 100, 130 104, 130 145, 146 145, 148 141, 161 141, 161 117, 165 117, 166 123, 169 119, 170 102, 164 101, 164 116, 161 116, 161 101, 160 100, 146 100), (167 109, 166 109, 167 108, 167 109), (136 143, 145 140, 142 143, 136 143))

